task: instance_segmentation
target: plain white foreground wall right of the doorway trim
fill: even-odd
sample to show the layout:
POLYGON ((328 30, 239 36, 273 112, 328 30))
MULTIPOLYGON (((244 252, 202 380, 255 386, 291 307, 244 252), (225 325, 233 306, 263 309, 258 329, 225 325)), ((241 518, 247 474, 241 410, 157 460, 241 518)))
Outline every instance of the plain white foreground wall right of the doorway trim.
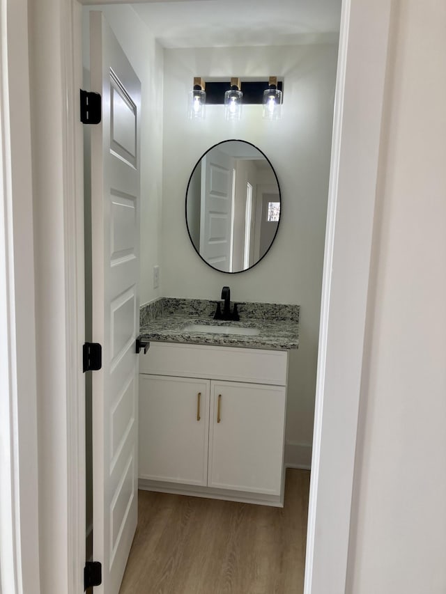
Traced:
POLYGON ((351 594, 446 592, 446 4, 394 3, 351 594))

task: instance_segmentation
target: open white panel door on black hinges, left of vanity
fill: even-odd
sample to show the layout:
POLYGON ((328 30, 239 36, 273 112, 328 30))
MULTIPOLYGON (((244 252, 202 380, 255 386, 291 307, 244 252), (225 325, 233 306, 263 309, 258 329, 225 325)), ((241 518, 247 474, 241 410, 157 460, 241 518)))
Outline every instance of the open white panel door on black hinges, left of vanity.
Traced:
POLYGON ((93 556, 95 592, 118 594, 137 526, 140 83, 100 12, 90 13, 91 90, 102 123, 91 129, 93 341, 93 556))

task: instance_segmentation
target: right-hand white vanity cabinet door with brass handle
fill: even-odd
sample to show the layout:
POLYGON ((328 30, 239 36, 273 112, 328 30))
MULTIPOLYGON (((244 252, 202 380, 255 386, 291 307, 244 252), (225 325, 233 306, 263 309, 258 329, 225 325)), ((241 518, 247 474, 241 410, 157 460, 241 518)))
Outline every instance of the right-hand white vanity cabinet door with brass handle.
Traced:
POLYGON ((211 382, 210 390, 208 486, 279 495, 286 389, 211 382))

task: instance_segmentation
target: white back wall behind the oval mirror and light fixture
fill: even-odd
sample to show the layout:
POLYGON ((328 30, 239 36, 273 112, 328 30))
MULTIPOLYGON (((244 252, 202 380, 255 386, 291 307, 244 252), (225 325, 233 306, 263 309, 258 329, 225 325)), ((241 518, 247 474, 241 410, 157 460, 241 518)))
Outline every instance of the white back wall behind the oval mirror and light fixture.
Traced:
POLYGON ((309 464, 312 443, 336 65, 336 45, 164 52, 162 291, 167 297, 217 299, 227 284, 234 300, 300 304, 287 414, 287 459, 297 464, 309 464), (282 120, 263 120, 260 105, 244 106, 238 123, 226 123, 222 106, 210 105, 206 120, 187 120, 194 76, 236 75, 284 77, 282 120), (254 143, 270 159, 282 189, 283 217, 266 258, 228 276, 195 253, 185 226, 185 191, 201 155, 231 138, 254 143))

